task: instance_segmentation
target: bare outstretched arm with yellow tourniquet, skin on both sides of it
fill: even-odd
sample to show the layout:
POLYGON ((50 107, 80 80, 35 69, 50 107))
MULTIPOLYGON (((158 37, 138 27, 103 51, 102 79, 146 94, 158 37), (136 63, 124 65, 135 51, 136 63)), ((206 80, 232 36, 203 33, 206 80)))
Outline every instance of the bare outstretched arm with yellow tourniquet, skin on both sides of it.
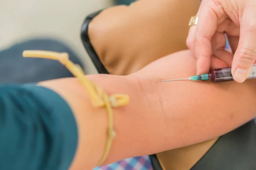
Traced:
MULTIPOLYGON (((160 82, 194 75, 195 63, 192 52, 180 51, 129 76, 87 76, 108 94, 130 96, 129 105, 113 109, 117 135, 104 164, 215 139, 256 116, 255 80, 242 84, 160 82)), ((75 78, 39 85, 60 94, 76 117, 79 144, 70 169, 92 169, 105 146, 105 109, 91 107, 87 92, 75 78)))

